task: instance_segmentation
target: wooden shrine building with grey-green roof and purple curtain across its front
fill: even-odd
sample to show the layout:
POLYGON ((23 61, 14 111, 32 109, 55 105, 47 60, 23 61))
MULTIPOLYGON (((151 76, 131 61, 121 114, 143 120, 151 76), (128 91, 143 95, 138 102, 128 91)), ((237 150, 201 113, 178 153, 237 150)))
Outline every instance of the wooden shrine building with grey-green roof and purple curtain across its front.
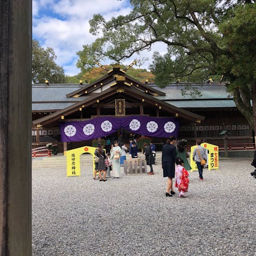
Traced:
POLYGON ((225 83, 189 83, 202 96, 182 95, 188 83, 171 83, 163 89, 142 83, 113 67, 90 84, 32 84, 32 147, 57 144, 59 152, 110 137, 129 142, 147 136, 161 150, 175 135, 194 145, 196 138, 223 148, 223 131, 229 145, 252 145, 252 130, 237 110, 225 83))

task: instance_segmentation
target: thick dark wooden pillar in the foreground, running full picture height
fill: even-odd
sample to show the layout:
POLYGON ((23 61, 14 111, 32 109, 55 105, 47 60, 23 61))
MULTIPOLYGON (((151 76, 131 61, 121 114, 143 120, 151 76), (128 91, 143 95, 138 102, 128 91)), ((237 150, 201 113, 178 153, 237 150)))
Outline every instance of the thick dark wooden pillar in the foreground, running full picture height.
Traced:
POLYGON ((0 254, 31 255, 32 0, 0 1, 0 254))

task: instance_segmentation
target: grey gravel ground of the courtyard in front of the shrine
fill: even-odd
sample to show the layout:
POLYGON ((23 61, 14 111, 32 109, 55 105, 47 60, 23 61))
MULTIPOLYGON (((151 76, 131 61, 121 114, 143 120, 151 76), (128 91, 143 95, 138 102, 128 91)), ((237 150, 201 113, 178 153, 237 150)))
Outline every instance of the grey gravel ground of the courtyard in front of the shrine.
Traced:
POLYGON ((33 255, 256 255, 256 179, 251 160, 190 173, 186 198, 165 197, 166 178, 93 180, 33 170, 33 255))

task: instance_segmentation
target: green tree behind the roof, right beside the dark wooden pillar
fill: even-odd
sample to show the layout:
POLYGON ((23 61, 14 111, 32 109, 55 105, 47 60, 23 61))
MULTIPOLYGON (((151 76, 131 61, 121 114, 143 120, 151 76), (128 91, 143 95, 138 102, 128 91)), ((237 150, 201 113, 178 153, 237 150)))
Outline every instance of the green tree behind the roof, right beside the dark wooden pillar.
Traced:
POLYGON ((37 40, 32 41, 32 81, 34 83, 65 83, 63 67, 55 63, 56 55, 52 48, 42 48, 37 40))

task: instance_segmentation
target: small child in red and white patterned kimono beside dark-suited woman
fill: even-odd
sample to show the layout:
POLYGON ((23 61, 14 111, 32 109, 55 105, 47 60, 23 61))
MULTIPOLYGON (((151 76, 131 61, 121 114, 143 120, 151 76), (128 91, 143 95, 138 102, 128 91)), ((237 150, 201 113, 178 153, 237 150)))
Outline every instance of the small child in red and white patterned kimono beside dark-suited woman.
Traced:
POLYGON ((185 197, 184 193, 188 192, 189 188, 189 173, 188 171, 183 167, 184 161, 181 158, 176 158, 176 169, 175 169, 175 176, 176 176, 176 182, 175 187, 179 190, 179 197, 185 197))

